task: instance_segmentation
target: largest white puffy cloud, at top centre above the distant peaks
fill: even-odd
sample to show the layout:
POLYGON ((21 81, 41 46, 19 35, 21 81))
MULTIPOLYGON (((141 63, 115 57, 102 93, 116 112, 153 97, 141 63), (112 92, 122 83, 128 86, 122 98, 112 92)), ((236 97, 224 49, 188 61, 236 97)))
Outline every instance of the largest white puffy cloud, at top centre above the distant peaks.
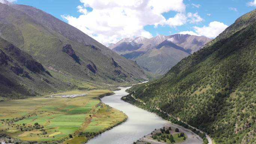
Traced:
POLYGON ((198 13, 187 13, 183 0, 80 0, 79 17, 62 17, 103 44, 116 43, 125 37, 152 37, 143 28, 146 25, 177 27, 202 21, 198 13), (92 11, 87 8, 91 7, 92 11), (174 11, 173 18, 162 13, 174 11))

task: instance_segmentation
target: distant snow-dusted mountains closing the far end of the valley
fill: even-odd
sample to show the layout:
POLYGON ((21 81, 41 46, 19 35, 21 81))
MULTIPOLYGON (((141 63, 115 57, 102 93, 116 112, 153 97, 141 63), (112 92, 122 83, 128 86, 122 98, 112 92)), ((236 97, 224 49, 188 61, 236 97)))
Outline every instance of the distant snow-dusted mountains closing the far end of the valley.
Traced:
POLYGON ((109 48, 127 59, 136 61, 147 71, 165 74, 181 59, 201 49, 210 40, 204 36, 189 34, 159 35, 151 39, 125 38, 109 48))

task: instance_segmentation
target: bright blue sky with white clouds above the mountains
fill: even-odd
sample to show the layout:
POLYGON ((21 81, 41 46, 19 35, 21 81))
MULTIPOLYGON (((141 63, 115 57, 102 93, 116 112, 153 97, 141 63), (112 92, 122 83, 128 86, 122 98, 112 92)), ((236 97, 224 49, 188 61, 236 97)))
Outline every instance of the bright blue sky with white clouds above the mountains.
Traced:
POLYGON ((162 0, 162 4, 161 0, 157 3, 154 3, 154 0, 150 1, 153 1, 151 6, 151 9, 155 10, 153 12, 147 7, 143 8, 144 11, 130 8, 137 6, 134 5, 136 0, 131 0, 131 3, 127 4, 123 4, 122 0, 16 0, 14 3, 34 6, 50 13, 104 44, 115 43, 124 37, 152 37, 184 31, 214 38, 235 19, 256 8, 256 2, 249 4, 253 0, 162 0), (106 1, 109 3, 106 4, 106 1), (111 7, 112 3, 116 5, 111 7), (165 5, 171 6, 165 7, 165 5), (162 10, 162 7, 166 10, 162 10), (120 13, 118 11, 120 9, 124 9, 123 16, 127 17, 117 14, 120 13), (143 15, 140 15, 141 13, 143 15), (175 24, 176 19, 172 19, 176 15, 180 20, 179 24, 175 24), (214 30, 216 28, 219 30, 210 34, 213 28, 209 24, 214 21, 215 23, 211 25, 213 27, 216 25, 214 30))

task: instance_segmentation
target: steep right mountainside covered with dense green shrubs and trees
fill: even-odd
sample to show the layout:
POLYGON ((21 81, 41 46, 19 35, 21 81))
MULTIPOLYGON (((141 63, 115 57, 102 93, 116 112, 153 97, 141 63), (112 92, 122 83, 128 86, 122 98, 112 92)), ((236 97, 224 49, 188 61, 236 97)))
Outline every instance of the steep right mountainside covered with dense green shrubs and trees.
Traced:
POLYGON ((130 89, 210 134, 217 144, 256 143, 256 10, 238 18, 159 80, 130 89))

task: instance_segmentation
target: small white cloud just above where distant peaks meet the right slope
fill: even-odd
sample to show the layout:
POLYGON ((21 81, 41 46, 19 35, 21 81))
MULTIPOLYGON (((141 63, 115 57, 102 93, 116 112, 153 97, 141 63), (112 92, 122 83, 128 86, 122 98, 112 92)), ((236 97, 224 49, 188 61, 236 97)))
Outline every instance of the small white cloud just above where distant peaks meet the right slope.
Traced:
POLYGON ((194 27, 194 30, 199 35, 206 36, 209 38, 215 38, 220 33, 222 33, 222 31, 224 31, 227 27, 228 25, 225 25, 222 22, 213 21, 210 22, 208 26, 194 27))

